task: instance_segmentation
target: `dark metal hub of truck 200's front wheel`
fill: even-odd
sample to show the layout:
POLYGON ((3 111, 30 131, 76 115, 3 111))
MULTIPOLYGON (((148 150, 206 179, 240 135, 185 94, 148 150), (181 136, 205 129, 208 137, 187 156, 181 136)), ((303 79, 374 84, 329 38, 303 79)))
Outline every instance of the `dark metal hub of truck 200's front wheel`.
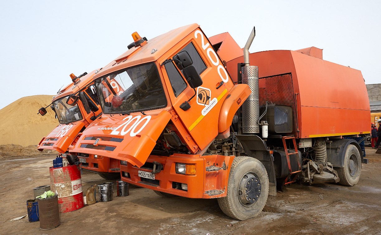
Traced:
POLYGON ((242 205, 251 206, 261 195, 261 181, 253 172, 246 173, 238 186, 238 198, 242 205))

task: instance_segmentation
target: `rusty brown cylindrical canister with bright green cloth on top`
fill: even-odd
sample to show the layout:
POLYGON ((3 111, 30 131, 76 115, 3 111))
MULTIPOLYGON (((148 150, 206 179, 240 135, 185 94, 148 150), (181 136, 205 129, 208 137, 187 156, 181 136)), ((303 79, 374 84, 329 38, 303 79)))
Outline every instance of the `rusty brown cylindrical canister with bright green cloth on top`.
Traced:
POLYGON ((58 195, 47 198, 38 198, 38 214, 40 216, 40 229, 48 230, 58 227, 59 221, 58 195))

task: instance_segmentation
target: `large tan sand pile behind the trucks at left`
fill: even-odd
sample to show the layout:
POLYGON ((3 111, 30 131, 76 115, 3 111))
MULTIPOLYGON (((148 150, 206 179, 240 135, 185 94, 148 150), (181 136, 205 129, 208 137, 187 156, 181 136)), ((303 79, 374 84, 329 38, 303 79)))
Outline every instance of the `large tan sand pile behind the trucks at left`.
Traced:
POLYGON ((50 104, 52 95, 32 95, 20 98, 0 110, 0 145, 37 145, 58 125, 50 107, 41 116, 38 109, 50 104))

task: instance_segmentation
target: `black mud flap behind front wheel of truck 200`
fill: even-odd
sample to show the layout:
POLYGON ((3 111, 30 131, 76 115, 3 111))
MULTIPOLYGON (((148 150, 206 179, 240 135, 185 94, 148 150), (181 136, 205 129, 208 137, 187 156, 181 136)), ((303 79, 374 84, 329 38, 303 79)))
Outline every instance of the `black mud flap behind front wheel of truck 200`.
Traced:
POLYGON ((237 135, 238 140, 249 157, 261 161, 269 177, 269 195, 277 195, 274 159, 270 156, 266 143, 258 135, 237 135))

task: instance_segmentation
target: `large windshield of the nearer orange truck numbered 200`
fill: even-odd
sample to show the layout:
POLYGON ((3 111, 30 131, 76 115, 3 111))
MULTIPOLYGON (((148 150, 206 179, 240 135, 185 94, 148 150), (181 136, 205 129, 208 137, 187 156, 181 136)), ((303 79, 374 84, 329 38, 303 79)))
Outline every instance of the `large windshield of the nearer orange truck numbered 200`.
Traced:
POLYGON ((165 107, 167 102, 156 65, 143 64, 96 79, 104 113, 133 113, 165 107))

